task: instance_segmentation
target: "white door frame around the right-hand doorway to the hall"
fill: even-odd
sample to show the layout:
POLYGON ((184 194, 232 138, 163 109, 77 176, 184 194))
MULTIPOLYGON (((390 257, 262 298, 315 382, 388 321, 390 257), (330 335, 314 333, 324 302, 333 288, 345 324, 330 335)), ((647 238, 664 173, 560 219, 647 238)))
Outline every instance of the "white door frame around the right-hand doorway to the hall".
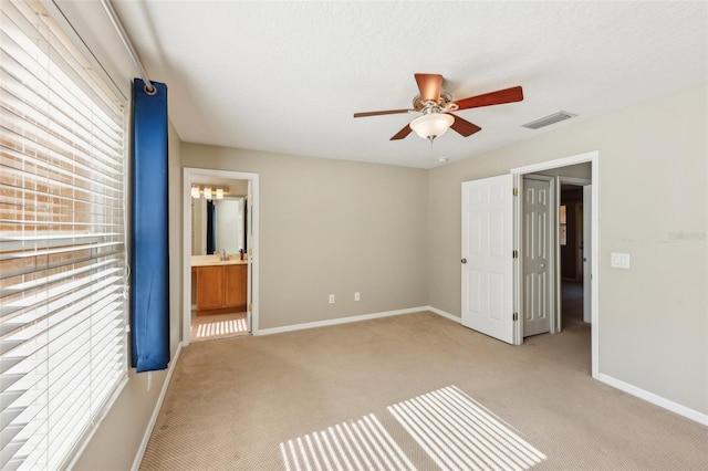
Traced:
MULTIPOLYGON (((568 167, 575 164, 591 163, 591 176, 592 176, 592 205, 591 205, 591 313, 592 313, 592 329, 591 329, 591 348, 592 348, 592 376, 597 379, 600 375, 600 151, 592 150, 584 154, 573 155, 570 157, 558 158, 553 160, 542 161, 539 164, 532 164, 523 167, 517 167, 511 169, 513 175, 514 188, 521 188, 522 176, 525 174, 533 174, 543 170, 550 170, 560 167, 568 167)), ((521 312, 521 286, 523 275, 520 270, 520 260, 522 260, 521 250, 523 247, 522 241, 522 224, 520 211, 521 201, 520 198, 514 198, 514 247, 519 250, 519 258, 514 260, 514 289, 513 289, 513 306, 514 312, 521 312)), ((558 273, 556 273, 558 275, 558 273)), ((558 276, 556 276, 558 278, 558 276)), ((521 322, 514 323, 514 344, 521 345, 523 343, 523 329, 521 322)))

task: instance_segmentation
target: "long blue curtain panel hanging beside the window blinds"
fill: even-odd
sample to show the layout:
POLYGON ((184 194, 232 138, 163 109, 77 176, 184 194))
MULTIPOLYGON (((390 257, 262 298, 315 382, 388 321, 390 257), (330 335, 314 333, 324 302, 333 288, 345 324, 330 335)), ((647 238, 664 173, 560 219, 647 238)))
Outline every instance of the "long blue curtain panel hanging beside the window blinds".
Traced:
POLYGON ((167 86, 133 81, 131 341, 138 373, 169 363, 167 86))

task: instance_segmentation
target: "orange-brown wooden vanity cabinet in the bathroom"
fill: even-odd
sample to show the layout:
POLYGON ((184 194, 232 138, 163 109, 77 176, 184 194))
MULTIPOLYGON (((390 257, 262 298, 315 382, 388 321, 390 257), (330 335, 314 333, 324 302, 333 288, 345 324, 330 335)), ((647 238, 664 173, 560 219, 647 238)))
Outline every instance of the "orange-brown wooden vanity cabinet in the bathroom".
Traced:
MULTIPOLYGON (((248 265, 197 266, 197 315, 246 307, 248 265)), ((231 310, 233 311, 233 310, 231 310)))

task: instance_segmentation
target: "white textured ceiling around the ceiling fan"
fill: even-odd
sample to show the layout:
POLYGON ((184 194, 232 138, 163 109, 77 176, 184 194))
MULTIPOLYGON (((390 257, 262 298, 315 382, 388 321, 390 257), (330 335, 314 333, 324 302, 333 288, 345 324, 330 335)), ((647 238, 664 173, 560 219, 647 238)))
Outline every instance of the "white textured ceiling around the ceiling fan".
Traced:
MULTIPOLYGON (((113 1, 185 142, 431 168, 708 82, 708 3, 113 1), (413 74, 464 98, 482 130, 388 140, 413 74), (521 125, 568 111, 577 117, 521 125)), ((670 119, 670 116, 667 116, 670 119)))

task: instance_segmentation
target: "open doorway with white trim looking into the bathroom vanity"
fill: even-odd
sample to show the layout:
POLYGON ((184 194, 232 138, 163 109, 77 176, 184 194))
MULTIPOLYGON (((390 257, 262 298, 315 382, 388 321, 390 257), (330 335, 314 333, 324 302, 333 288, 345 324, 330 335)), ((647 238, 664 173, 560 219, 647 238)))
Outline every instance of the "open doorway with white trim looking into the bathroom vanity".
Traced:
POLYGON ((185 345, 230 334, 258 334, 258 174, 184 169, 181 287, 185 345), (223 196, 218 200, 212 198, 212 205, 208 207, 204 191, 212 187, 218 187, 223 196), (221 218, 218 201, 227 202, 221 206, 221 218), (232 208, 240 210, 231 214, 232 208), (219 219, 230 226, 220 228, 219 219), (239 226, 243 228, 240 236, 235 229, 239 226), (228 241, 218 240, 220 233, 229 231, 232 237, 228 241), (228 260, 217 262, 223 252, 228 260), (223 287, 221 291, 215 286, 223 287), (196 302, 200 290, 204 291, 204 303, 196 302))

